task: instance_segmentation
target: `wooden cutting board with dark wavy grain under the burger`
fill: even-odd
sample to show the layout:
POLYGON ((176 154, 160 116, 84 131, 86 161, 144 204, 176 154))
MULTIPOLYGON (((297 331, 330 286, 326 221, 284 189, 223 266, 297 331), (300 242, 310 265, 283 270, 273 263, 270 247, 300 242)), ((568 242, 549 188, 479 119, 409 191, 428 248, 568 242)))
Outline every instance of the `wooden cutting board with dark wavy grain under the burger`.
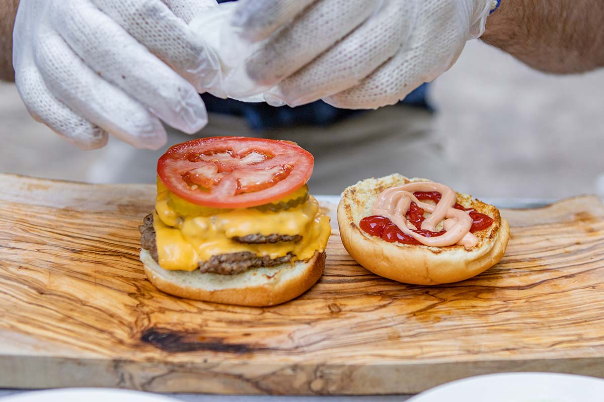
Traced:
POLYGON ((506 256, 448 286, 356 265, 333 234, 309 292, 255 308, 157 291, 138 261, 147 185, 0 175, 0 387, 415 393, 469 375, 604 377, 604 207, 503 210, 506 256))

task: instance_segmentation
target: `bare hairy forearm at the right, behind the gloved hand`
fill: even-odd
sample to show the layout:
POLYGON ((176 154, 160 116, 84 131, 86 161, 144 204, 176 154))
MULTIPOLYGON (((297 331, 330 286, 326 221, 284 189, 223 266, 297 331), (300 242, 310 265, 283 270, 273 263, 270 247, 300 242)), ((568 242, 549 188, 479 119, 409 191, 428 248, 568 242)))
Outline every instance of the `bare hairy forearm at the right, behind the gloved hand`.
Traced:
POLYGON ((484 42, 532 68, 569 74, 604 66, 600 0, 501 0, 484 42))

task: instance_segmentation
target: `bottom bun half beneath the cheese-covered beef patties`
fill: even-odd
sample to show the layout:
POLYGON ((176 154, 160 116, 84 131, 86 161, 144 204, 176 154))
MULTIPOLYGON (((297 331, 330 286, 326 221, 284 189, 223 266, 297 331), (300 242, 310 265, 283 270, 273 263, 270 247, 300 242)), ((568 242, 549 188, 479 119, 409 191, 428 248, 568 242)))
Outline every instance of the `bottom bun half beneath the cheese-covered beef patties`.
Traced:
POLYGON ((254 268, 237 275, 169 271, 161 268, 144 249, 140 257, 147 278, 161 291, 240 306, 274 306, 292 300, 315 284, 325 269, 325 253, 318 252, 306 262, 254 268))

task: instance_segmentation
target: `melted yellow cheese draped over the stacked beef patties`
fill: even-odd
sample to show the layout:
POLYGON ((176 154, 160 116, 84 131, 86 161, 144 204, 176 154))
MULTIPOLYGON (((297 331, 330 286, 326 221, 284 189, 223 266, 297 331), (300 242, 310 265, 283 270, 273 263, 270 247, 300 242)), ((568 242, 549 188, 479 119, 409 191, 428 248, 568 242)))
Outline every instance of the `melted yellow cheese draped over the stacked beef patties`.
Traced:
POLYGON ((261 212, 253 208, 216 210, 203 213, 191 204, 183 210, 186 201, 171 193, 158 180, 158 195, 153 213, 153 228, 159 266, 164 269, 194 271, 200 261, 219 254, 249 251, 256 256, 271 259, 294 254, 292 260, 307 260, 322 253, 331 234, 329 217, 323 215, 319 203, 309 196, 306 203, 279 212, 261 212), (173 206, 178 201, 178 212, 173 206), (193 212, 194 214, 191 214, 193 212), (201 214, 201 215, 200 215, 201 214), (248 234, 300 234, 299 242, 243 244, 231 240, 248 234))

